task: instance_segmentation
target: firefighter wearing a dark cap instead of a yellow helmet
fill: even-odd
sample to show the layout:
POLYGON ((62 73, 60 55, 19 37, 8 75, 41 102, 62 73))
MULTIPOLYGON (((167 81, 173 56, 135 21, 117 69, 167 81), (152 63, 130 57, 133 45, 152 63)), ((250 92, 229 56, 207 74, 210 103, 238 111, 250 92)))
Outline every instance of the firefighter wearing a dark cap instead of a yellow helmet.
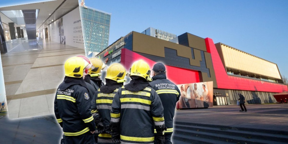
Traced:
MULTIPOLYGON (((152 76, 153 81, 150 82, 150 85, 159 95, 164 108, 165 126, 167 127, 164 144, 172 144, 173 117, 175 114, 176 102, 180 97, 180 90, 177 85, 166 78, 166 68, 164 64, 155 64, 152 69, 152 76)), ((156 130, 154 133, 156 133, 156 130)))

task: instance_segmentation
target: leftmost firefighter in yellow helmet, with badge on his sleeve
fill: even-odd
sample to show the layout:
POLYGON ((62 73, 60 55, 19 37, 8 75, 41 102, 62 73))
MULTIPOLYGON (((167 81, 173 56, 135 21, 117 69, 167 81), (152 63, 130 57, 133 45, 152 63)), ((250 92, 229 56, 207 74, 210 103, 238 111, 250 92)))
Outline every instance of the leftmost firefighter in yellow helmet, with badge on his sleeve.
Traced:
POLYGON ((90 113, 91 101, 82 78, 88 62, 80 57, 69 58, 65 64, 64 81, 57 88, 54 113, 63 128, 66 144, 95 144, 95 122, 90 113))

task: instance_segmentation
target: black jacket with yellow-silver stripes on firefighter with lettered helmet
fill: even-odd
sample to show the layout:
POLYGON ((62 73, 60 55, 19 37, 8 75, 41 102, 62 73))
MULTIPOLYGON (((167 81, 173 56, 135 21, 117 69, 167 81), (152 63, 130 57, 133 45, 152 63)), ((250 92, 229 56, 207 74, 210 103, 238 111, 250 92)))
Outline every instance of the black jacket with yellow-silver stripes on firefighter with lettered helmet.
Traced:
POLYGON ((145 81, 132 79, 113 99, 111 122, 120 122, 120 139, 124 143, 154 143, 154 125, 164 124, 161 100, 145 81))

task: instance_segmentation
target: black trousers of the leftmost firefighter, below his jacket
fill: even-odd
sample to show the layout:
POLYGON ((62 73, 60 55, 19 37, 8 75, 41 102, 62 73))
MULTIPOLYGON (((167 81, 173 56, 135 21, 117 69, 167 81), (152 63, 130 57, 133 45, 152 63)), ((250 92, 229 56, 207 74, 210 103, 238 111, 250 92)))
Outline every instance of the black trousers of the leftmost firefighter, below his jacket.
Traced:
POLYGON ((96 144, 94 134, 88 131, 80 136, 65 136, 65 144, 96 144))

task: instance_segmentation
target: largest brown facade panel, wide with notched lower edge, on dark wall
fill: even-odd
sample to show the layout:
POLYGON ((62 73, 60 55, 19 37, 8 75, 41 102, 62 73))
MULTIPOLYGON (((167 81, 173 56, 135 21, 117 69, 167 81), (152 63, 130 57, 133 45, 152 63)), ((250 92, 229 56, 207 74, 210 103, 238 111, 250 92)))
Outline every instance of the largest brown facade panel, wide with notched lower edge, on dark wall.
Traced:
MULTIPOLYGON (((203 39, 204 41, 204 39, 203 39)), ((204 43, 205 44, 205 43, 204 43)), ((133 32, 133 51, 141 52, 149 55, 155 55, 160 57, 165 57, 164 48, 170 48, 177 50, 177 55, 185 58, 189 58, 190 65, 200 67, 201 55, 196 50, 194 51, 195 59, 192 58, 191 48, 187 46, 182 46, 170 41, 161 40, 158 38, 151 37, 149 35, 144 35, 138 32, 133 32)))

